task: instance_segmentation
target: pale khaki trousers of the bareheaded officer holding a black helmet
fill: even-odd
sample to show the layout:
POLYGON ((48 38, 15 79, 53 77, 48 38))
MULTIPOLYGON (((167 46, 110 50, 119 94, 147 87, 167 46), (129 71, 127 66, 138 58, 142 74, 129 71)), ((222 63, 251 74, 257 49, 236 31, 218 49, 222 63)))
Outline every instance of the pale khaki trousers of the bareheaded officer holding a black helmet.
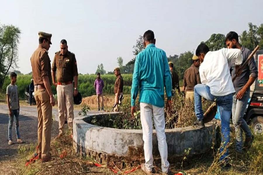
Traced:
POLYGON ((70 131, 73 129, 73 84, 57 85, 58 97, 58 124, 59 134, 63 134, 65 124, 65 116, 68 117, 68 127, 70 131))

